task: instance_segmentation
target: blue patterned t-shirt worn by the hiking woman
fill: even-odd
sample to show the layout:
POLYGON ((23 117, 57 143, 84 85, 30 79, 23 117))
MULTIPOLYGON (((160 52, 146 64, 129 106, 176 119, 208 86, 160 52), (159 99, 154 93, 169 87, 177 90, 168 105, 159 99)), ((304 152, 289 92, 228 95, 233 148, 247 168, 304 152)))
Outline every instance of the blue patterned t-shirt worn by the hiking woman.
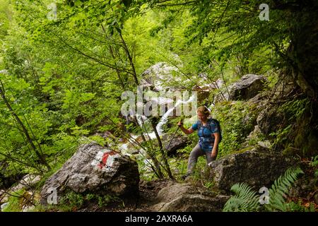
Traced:
MULTIPOLYGON (((196 123, 192 125, 192 129, 197 130, 199 127, 199 123, 199 121, 196 121, 196 123)), ((201 150, 208 152, 212 151, 215 140, 213 133, 218 132, 218 126, 212 119, 208 119, 207 124, 205 126, 203 126, 201 122, 200 129, 198 130, 199 145, 201 150)))

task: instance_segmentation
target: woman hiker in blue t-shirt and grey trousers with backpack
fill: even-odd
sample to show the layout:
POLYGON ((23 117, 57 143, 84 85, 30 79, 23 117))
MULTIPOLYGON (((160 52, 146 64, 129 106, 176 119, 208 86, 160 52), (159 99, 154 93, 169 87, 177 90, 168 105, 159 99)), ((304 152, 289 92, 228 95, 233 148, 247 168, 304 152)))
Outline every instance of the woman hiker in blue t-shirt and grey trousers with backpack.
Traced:
POLYGON ((183 175, 182 179, 186 179, 192 173, 199 156, 206 155, 206 164, 208 165, 213 160, 216 160, 216 156, 218 155, 218 143, 220 141, 220 128, 218 124, 209 117, 210 112, 205 106, 198 107, 196 114, 199 120, 189 129, 183 127, 182 121, 178 123, 179 128, 184 133, 191 134, 198 130, 199 136, 199 143, 192 149, 189 156, 187 174, 183 175))

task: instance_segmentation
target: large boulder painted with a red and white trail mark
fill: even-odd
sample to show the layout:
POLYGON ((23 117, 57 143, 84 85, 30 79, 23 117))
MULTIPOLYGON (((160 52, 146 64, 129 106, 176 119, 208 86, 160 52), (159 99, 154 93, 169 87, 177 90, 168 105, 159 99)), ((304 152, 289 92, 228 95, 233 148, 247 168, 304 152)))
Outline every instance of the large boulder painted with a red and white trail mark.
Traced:
POLYGON ((41 203, 56 189, 58 199, 66 191, 76 193, 138 196, 139 171, 136 162, 126 155, 90 143, 78 151, 47 179, 41 191, 41 203))

